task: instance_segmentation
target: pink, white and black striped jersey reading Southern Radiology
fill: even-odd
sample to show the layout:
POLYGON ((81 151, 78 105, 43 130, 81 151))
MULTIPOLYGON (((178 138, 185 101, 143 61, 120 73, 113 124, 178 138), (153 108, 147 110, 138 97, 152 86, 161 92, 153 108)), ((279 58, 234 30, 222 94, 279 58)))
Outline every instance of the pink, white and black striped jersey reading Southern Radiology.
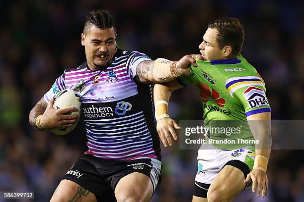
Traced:
POLYGON ((105 70, 91 71, 86 62, 66 69, 44 95, 47 102, 63 89, 79 95, 88 140, 86 153, 115 160, 160 160, 152 88, 140 83, 136 75, 137 65, 144 60, 151 58, 118 49, 105 70))

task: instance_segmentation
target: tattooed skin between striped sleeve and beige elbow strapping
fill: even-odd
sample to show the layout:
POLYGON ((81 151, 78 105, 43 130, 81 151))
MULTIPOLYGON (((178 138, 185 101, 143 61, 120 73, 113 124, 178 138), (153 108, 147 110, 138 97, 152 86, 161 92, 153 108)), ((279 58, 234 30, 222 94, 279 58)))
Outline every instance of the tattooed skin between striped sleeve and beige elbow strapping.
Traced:
POLYGON ((146 60, 141 62, 136 68, 136 74, 143 83, 151 83, 154 61, 146 60))

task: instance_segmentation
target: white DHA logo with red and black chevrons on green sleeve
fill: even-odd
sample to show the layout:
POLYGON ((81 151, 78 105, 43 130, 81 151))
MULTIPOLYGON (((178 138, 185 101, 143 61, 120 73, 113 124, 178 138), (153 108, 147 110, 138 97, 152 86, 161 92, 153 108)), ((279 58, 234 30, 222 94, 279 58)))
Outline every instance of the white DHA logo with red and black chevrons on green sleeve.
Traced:
POLYGON ((269 105, 263 89, 251 86, 243 92, 243 95, 251 108, 269 105))

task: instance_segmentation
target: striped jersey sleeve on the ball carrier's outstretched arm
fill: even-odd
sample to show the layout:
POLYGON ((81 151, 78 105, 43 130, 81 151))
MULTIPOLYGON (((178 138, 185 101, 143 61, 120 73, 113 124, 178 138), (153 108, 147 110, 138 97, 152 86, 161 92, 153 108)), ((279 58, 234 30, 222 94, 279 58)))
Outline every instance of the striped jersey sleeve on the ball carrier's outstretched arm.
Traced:
POLYGON ((129 77, 133 80, 136 76, 136 68, 139 63, 145 60, 152 60, 148 55, 138 51, 130 52, 127 60, 127 71, 129 77))

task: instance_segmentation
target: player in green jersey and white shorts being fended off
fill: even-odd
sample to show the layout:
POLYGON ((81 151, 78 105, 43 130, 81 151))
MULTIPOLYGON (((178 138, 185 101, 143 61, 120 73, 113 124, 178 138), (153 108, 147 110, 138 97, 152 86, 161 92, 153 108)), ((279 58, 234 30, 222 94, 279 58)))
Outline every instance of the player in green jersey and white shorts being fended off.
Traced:
MULTIPOLYGON (((225 17, 208 25, 199 45, 205 61, 197 60, 190 76, 155 84, 154 103, 157 132, 166 147, 177 140, 178 124, 168 115, 172 91, 195 85, 203 102, 205 122, 245 122, 247 130, 212 139, 246 140, 235 144, 213 144, 213 150, 199 150, 193 202, 230 202, 252 186, 257 196, 267 194, 266 175, 270 156, 271 109, 263 79, 241 55, 243 28, 236 18, 225 17), (262 120, 252 123, 249 120, 262 120), (265 147, 257 147, 259 140, 265 147)), ((254 121, 253 121, 254 122, 254 121)))

